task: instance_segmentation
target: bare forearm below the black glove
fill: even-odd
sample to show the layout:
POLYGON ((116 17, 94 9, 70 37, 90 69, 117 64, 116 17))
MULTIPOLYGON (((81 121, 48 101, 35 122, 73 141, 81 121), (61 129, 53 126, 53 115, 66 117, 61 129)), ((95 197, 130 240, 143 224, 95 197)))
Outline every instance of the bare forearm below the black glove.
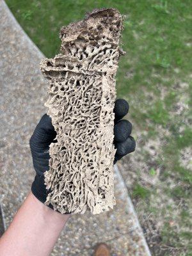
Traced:
POLYGON ((0 239, 0 255, 49 255, 69 216, 53 211, 30 192, 0 239))

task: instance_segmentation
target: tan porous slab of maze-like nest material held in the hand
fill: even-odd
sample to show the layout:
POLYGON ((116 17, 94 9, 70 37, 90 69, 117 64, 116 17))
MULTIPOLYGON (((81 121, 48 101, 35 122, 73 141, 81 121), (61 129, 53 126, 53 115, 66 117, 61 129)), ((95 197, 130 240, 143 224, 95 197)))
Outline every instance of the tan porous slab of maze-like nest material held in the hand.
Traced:
POLYGON ((60 54, 42 60, 49 81, 47 114, 56 130, 51 143, 45 204, 61 213, 99 214, 116 204, 113 125, 123 17, 105 8, 61 28, 60 54))

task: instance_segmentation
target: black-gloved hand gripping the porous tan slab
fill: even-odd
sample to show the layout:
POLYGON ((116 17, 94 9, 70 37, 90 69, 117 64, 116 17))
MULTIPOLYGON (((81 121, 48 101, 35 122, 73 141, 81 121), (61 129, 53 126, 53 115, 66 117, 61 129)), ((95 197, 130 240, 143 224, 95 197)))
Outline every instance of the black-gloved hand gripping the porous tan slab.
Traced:
MULTIPOLYGON (((129 104, 126 100, 118 99, 115 102, 115 126, 114 126, 114 144, 116 154, 114 163, 123 156, 134 151, 135 141, 130 136, 132 125, 127 120, 121 120, 129 111, 129 104)), ((33 195, 42 203, 45 202, 49 191, 45 188, 44 172, 49 170, 49 145, 56 138, 56 131, 51 123, 51 117, 45 114, 42 116, 35 131, 31 136, 29 145, 33 157, 33 166, 35 168, 36 176, 31 186, 33 195)), ((52 208, 50 204, 49 207, 52 208)))

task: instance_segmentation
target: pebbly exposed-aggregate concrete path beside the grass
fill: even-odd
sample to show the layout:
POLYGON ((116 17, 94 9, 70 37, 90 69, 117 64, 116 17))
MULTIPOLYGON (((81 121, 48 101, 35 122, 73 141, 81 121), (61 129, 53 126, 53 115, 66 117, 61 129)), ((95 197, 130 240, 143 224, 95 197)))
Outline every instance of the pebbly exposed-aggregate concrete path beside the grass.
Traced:
MULTIPOLYGON (((0 15, 0 193, 4 223, 8 227, 35 176, 29 138, 46 112, 47 85, 39 70, 43 54, 2 0, 0 15)), ((117 205, 113 211, 70 218, 51 255, 92 255, 95 244, 100 242, 111 246, 113 256, 150 255, 117 168, 115 195, 117 205)))

